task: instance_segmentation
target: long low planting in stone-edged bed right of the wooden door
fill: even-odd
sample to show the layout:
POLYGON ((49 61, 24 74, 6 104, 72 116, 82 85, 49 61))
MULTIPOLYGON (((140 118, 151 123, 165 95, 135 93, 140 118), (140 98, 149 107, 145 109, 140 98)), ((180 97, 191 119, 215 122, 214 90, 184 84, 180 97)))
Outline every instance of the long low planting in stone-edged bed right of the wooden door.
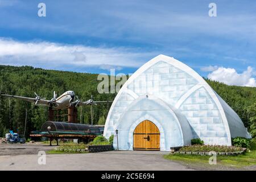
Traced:
POLYGON ((239 152, 242 151, 241 147, 235 147, 235 146, 210 146, 210 145, 201 145, 201 144, 195 144, 193 146, 185 146, 181 147, 181 152, 239 152))

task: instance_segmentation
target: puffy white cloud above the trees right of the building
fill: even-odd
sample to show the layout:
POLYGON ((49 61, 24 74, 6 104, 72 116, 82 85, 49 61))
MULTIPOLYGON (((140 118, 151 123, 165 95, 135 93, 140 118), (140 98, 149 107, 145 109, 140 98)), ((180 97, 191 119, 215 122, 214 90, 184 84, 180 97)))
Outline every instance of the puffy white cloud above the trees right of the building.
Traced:
POLYGON ((253 76, 253 68, 248 67, 243 73, 237 73, 236 69, 220 67, 209 73, 208 78, 227 85, 252 86, 256 87, 256 80, 253 76))

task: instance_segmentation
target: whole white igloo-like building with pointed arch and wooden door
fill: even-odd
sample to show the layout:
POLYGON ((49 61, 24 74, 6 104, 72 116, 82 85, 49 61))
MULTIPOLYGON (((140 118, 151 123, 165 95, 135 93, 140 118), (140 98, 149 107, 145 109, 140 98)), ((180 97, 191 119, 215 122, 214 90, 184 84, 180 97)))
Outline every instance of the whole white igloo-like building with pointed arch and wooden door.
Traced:
POLYGON ((164 55, 144 64, 119 90, 104 136, 115 130, 119 150, 170 151, 193 138, 230 146, 234 137, 250 138, 240 117, 198 73, 164 55))

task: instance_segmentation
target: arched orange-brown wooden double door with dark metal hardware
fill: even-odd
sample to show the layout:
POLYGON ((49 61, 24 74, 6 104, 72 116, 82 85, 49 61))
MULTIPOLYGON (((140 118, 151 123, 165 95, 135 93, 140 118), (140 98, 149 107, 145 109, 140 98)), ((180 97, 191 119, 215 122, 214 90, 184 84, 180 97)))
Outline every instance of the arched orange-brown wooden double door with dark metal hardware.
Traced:
POLYGON ((154 123, 145 120, 135 128, 133 150, 160 150, 160 132, 154 123))

